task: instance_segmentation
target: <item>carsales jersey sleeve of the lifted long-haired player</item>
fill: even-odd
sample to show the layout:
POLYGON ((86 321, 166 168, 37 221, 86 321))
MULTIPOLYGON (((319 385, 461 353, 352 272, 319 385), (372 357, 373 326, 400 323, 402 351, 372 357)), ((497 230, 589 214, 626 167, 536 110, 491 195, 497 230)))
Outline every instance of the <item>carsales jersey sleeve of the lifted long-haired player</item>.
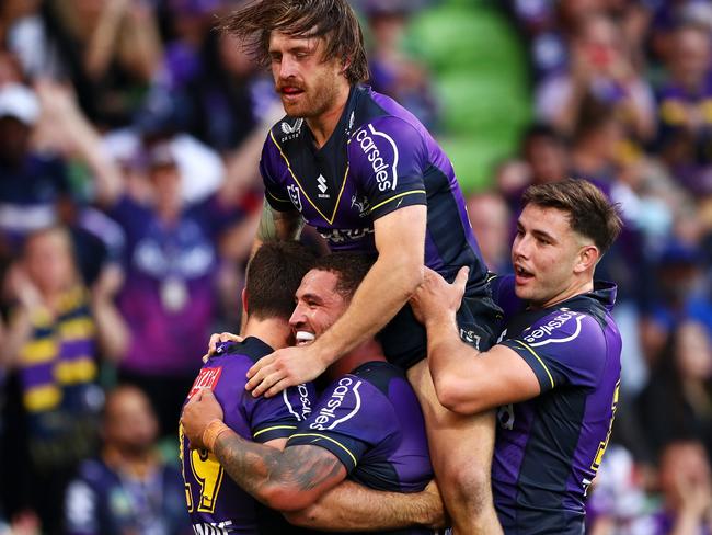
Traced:
POLYGON ((352 175, 368 196, 374 219, 427 204, 423 179, 427 147, 405 121, 389 116, 361 126, 348 141, 348 161, 352 175))

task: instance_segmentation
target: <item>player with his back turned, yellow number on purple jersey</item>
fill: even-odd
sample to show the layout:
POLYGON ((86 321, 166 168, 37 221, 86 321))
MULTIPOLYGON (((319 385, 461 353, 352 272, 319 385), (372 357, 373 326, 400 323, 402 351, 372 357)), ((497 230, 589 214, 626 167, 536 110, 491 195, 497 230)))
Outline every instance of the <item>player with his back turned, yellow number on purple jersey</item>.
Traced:
MULTIPOLYGON (((294 294, 315 255, 297 242, 266 243, 248 268, 243 310, 244 340, 223 344, 204 364, 190 400, 203 388, 215 392, 226 423, 236 433, 266 446, 282 448, 305 420, 317 397, 311 384, 286 389, 274 398, 253 398, 244 390, 245 372, 261 357, 291 341, 288 319, 294 294)), ((259 533, 284 522, 282 515, 259 509, 206 451, 191 451, 181 426, 181 464, 191 522, 196 534, 259 533)), ((285 523, 286 525, 286 523, 285 523)))

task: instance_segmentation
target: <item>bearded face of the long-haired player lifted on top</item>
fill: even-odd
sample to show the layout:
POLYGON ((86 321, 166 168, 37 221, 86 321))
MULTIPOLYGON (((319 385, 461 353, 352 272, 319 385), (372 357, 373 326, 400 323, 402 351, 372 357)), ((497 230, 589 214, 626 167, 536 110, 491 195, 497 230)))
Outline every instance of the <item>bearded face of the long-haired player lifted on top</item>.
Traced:
POLYGON ((337 105, 348 81, 337 59, 323 60, 322 37, 291 37, 273 32, 269 57, 275 89, 290 117, 314 118, 337 105))

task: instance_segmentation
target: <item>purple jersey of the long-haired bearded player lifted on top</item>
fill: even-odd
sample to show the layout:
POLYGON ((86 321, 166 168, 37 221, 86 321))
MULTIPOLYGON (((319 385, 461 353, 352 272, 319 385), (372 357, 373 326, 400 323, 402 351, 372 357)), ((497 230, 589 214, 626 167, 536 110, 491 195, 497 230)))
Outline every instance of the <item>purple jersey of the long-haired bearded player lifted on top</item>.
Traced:
POLYGON ((427 205, 425 264, 451 281, 470 268, 468 295, 487 295, 486 268, 455 170, 407 110, 367 86, 352 88, 336 129, 317 149, 302 118, 284 117, 260 171, 278 212, 298 209, 333 251, 376 252, 374 220, 427 205))

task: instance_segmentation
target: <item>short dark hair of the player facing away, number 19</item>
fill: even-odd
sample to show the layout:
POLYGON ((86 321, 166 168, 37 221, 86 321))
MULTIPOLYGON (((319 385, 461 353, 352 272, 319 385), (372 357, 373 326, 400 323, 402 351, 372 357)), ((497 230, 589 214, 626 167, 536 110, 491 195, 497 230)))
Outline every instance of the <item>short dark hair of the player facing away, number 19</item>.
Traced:
POLYGON ((297 241, 263 243, 248 265, 248 314, 257 319, 288 319, 295 294, 317 254, 297 241))

